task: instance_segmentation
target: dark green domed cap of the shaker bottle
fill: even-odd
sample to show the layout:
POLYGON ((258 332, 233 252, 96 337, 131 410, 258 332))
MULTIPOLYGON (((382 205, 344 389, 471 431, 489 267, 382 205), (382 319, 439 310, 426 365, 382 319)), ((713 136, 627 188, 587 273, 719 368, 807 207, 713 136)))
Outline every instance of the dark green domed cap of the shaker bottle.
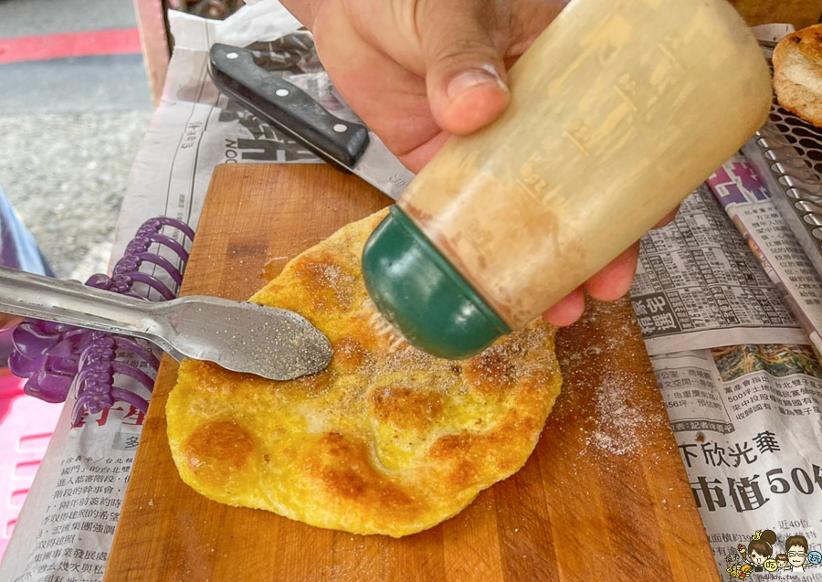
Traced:
POLYGON ((465 359, 511 333, 397 206, 365 243, 363 278, 385 319, 428 354, 465 359))

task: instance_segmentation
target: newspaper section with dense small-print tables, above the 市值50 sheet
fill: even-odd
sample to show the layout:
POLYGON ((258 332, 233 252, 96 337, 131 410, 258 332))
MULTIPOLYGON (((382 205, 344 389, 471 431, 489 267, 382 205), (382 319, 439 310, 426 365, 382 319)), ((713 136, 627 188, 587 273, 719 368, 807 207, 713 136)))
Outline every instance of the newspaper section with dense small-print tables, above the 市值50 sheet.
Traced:
POLYGON ((686 198, 669 227, 642 238, 631 298, 648 354, 807 342, 707 185, 686 198))

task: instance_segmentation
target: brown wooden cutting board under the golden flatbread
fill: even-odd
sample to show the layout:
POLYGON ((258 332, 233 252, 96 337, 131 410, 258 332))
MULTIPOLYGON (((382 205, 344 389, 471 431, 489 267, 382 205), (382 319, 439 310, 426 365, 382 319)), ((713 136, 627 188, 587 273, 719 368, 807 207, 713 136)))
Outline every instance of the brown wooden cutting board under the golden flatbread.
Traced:
MULTIPOLYGON (((287 259, 391 201, 325 165, 216 169, 183 294, 247 299, 287 259)), ((177 475, 165 357, 105 579, 718 580, 629 302, 559 333, 564 384, 521 471, 401 539, 211 502, 177 475)))

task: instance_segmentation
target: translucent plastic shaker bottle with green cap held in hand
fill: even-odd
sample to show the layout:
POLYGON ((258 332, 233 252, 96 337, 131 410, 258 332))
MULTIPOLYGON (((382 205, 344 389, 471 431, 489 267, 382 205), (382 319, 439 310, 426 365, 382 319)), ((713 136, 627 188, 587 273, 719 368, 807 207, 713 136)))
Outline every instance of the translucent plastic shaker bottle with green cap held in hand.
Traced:
POLYGON ((771 102, 727 0, 574 0, 509 82, 509 109, 449 138, 364 249, 374 303, 440 357, 478 353, 615 259, 771 102))

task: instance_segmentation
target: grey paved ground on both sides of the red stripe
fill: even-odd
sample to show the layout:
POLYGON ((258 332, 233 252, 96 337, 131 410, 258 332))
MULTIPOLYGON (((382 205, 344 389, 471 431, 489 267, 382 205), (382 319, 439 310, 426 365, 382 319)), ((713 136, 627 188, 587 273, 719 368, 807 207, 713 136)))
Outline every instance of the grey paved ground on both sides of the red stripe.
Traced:
MULTIPOLYGON (((0 0, 0 39, 133 26, 132 0, 0 0)), ((142 56, 98 49, 0 64, 0 185, 61 278, 105 270, 153 111, 142 56)))

